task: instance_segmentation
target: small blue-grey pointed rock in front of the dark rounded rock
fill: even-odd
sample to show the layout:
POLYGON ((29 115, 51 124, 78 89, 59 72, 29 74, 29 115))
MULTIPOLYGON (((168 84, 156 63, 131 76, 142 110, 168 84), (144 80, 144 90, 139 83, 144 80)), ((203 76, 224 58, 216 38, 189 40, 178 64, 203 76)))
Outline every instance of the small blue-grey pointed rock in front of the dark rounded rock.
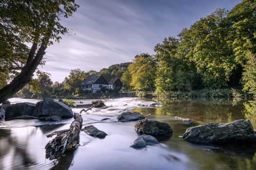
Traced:
POLYGON ((130 145, 132 148, 144 148, 147 145, 158 144, 158 140, 150 135, 141 135, 130 145))

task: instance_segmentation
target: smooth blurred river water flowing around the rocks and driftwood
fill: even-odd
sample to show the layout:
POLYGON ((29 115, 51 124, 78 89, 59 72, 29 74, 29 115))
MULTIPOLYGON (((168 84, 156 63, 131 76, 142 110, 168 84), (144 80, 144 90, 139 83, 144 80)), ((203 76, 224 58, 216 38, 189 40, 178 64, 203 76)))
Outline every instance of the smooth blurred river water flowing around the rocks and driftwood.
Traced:
MULTIPOLYGON (((13 98, 15 102, 37 102, 13 98)), ((79 101, 76 101, 79 102, 79 101)), ((83 102, 89 102, 88 100, 83 102)), ((54 165, 45 159, 46 135, 67 129, 73 119, 58 123, 39 120, 11 120, 0 122, 0 170, 256 170, 256 145, 233 143, 228 145, 199 145, 186 142, 182 134, 190 126, 206 122, 231 122, 250 119, 256 127, 256 102, 172 101, 161 107, 141 107, 151 102, 137 98, 109 100, 104 110, 83 113, 83 126, 94 125, 108 134, 104 139, 80 133, 77 150, 65 152, 54 165), (130 148, 138 137, 136 121, 118 122, 123 111, 151 114, 149 119, 167 122, 173 129, 169 139, 159 145, 143 149, 130 148), (191 124, 174 117, 189 118, 191 124), (100 121, 104 118, 110 118, 100 121)), ((79 112, 80 109, 73 109, 79 112)))

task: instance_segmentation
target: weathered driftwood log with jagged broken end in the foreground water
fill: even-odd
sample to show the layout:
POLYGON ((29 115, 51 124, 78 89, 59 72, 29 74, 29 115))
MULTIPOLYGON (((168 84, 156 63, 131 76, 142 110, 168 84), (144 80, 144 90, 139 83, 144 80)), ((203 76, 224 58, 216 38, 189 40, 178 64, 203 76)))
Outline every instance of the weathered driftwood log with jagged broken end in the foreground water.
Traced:
POLYGON ((47 135, 47 137, 57 135, 45 146, 45 157, 47 159, 57 159, 66 149, 72 149, 77 146, 83 119, 78 113, 74 113, 74 119, 69 129, 55 131, 47 135))

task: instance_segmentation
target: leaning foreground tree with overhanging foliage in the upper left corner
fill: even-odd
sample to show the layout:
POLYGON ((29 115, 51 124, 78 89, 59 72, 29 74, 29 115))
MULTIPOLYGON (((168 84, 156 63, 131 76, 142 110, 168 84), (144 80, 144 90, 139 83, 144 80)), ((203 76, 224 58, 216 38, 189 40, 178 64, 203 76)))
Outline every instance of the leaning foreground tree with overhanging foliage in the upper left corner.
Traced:
MULTIPOLYGON (((60 34, 68 29, 60 24, 61 17, 70 17, 79 5, 74 0, 2 0, 0 1, 0 57, 1 64, 0 103, 11 98, 33 76, 42 63, 47 46, 53 41, 59 42, 60 34), (31 48, 27 44, 32 44, 31 48), (6 50, 5 50, 6 49, 6 50), (16 51, 17 50, 17 51, 16 51), (9 59, 17 60, 9 60, 9 59), (25 62, 24 62, 25 61, 25 62), (14 72, 14 78, 8 80, 6 70, 14 72), (20 71, 16 71, 16 70, 20 71), (2 71, 3 70, 3 71, 2 71), (6 85, 7 81, 10 81, 6 85)), ((9 74, 8 74, 9 75, 9 74)))

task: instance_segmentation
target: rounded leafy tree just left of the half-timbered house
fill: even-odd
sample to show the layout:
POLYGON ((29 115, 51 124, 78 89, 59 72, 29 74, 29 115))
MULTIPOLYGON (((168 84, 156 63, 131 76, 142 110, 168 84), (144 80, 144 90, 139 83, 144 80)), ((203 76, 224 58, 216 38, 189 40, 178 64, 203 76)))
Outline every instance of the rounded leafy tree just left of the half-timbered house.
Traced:
POLYGON ((86 73, 84 71, 81 71, 80 69, 72 69, 68 77, 65 77, 64 79, 64 88, 75 94, 76 88, 78 88, 78 86, 82 83, 85 76, 86 73))

